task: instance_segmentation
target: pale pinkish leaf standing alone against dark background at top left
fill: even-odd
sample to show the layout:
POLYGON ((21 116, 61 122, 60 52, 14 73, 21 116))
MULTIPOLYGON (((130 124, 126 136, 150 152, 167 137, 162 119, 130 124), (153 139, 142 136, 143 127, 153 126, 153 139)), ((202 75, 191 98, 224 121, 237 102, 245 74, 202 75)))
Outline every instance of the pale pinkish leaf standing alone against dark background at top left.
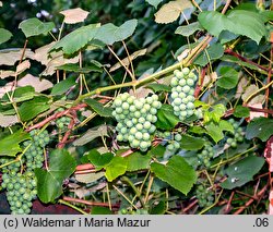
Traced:
POLYGON ((69 9, 60 12, 64 15, 63 22, 67 24, 74 24, 83 22, 90 12, 82 10, 81 8, 69 9))

